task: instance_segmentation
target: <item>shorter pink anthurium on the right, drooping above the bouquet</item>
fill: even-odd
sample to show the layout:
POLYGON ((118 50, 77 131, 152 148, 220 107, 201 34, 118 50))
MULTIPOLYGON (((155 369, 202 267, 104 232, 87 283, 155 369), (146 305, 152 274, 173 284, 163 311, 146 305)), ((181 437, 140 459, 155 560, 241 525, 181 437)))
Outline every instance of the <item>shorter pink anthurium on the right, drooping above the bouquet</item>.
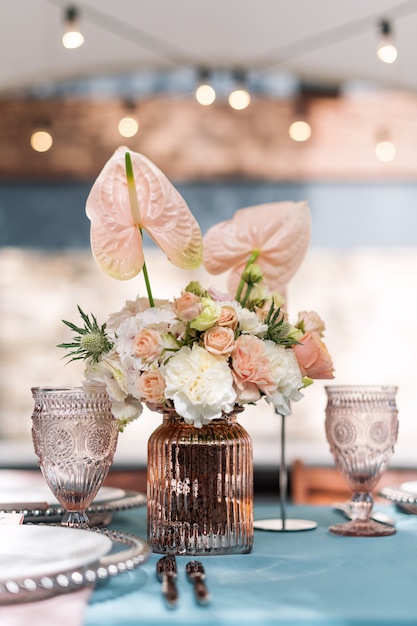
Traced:
POLYGON ((247 207, 207 231, 203 263, 210 274, 232 270, 228 288, 234 293, 252 256, 268 288, 284 292, 301 265, 310 235, 307 202, 271 202, 247 207))

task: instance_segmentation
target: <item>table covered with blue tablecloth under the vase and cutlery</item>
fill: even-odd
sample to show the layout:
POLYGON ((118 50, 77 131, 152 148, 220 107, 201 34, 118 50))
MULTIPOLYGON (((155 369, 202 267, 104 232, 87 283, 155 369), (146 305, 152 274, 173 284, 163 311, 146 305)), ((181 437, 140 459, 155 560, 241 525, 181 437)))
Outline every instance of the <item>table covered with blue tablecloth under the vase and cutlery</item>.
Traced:
MULTIPOLYGON (((212 593, 198 606, 185 576, 189 557, 177 557, 179 603, 165 607, 155 575, 160 555, 102 583, 87 606, 84 626, 384 626, 417 624, 417 516, 383 508, 397 519, 391 537, 341 537, 328 526, 343 521, 329 507, 289 506, 288 515, 316 520, 315 530, 255 531, 248 555, 206 556, 212 593)), ((275 517, 278 506, 255 506, 275 517)), ((146 538, 146 509, 120 512, 112 528, 146 538)))

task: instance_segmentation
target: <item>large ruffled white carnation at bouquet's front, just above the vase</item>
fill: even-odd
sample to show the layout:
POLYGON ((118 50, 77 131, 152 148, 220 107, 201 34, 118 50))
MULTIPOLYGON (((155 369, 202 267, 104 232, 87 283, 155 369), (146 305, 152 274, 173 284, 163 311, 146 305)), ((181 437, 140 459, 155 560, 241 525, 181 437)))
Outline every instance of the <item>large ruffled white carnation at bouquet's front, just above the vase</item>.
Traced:
POLYGON ((236 401, 233 377, 227 361, 197 344, 183 347, 167 363, 165 398, 188 424, 201 428, 229 413, 236 401))

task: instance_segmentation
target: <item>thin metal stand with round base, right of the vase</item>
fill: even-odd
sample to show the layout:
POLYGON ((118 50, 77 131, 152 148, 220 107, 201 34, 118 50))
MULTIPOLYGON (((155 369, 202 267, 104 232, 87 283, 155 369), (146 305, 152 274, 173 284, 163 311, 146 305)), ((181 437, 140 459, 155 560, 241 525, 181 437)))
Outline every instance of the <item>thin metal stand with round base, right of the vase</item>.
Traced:
MULTIPOLYGON (((279 413, 275 411, 277 415, 279 413)), ((304 519, 288 519, 286 512, 288 474, 285 460, 285 416, 281 415, 281 459, 279 468, 279 505, 281 517, 278 519, 255 520, 253 526, 257 530, 272 530, 275 532, 313 530, 317 522, 304 519)))

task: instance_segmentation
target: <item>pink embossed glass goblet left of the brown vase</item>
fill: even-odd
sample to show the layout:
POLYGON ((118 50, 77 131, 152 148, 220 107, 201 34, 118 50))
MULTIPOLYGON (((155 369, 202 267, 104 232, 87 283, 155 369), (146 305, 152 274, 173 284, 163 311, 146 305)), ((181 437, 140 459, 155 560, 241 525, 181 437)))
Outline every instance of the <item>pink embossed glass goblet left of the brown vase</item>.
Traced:
POLYGON ((65 509, 61 524, 88 527, 113 462, 118 427, 104 386, 33 387, 32 440, 38 465, 65 509))

